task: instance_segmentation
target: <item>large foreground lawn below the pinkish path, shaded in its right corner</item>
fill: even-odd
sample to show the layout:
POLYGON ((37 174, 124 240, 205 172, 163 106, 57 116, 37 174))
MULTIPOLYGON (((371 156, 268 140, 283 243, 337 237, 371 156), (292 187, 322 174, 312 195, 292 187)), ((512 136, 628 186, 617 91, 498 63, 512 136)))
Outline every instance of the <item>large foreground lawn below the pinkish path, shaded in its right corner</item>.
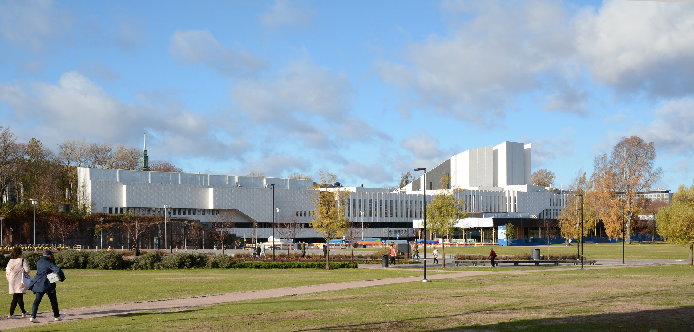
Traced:
POLYGON ((687 265, 494 274, 22 331, 693 331, 693 286, 694 268, 687 265))

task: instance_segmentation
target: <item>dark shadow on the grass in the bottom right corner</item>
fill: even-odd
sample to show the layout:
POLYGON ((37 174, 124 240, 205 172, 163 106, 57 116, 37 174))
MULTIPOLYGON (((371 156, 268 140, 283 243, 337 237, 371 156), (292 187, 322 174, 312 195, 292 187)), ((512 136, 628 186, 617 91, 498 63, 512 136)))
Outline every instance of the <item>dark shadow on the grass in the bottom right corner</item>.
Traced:
MULTIPOLYGON (((487 311, 484 311, 487 312, 487 311)), ((391 331, 393 329, 412 329, 423 332, 463 332, 463 331, 644 331, 652 329, 661 331, 694 331, 694 306, 668 308, 649 311, 634 311, 630 313, 604 313, 598 315, 573 315, 561 318, 539 318, 534 320, 513 320, 494 324, 459 325, 450 328, 427 327, 426 320, 437 318, 460 317, 470 313, 457 315, 440 315, 432 317, 412 318, 406 320, 391 320, 364 324, 349 324, 341 326, 325 326, 316 329, 301 329, 303 331, 391 331)))

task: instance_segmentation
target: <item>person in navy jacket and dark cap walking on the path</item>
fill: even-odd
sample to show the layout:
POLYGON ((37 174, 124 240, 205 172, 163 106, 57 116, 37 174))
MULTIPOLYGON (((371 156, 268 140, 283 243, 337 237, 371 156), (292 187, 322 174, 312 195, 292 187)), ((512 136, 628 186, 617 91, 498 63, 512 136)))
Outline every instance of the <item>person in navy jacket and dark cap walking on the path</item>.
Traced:
POLYGON ((46 294, 48 294, 48 299, 51 301, 53 317, 55 317, 56 320, 62 320, 62 317, 65 317, 64 313, 58 311, 56 283, 48 280, 48 275, 52 272, 57 272, 61 281, 65 280, 65 274, 53 263, 53 252, 51 252, 51 250, 44 250, 43 256, 36 262, 36 274, 34 275, 34 279, 32 279, 26 287, 26 289, 31 290, 36 295, 34 305, 31 308, 31 320, 29 320, 32 323, 39 322, 36 320, 36 313, 39 311, 41 299, 46 294))

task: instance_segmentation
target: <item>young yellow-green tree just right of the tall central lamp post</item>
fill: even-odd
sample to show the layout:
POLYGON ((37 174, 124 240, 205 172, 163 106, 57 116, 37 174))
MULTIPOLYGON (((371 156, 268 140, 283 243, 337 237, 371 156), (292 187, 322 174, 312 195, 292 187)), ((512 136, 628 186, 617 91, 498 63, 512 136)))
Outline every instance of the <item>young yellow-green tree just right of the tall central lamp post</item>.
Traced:
MULTIPOLYGON (((450 175, 443 174, 439 179, 441 191, 434 195, 434 200, 427 206, 427 229, 441 236, 448 235, 455 231, 458 219, 466 218, 467 212, 463 208, 465 201, 457 198, 459 189, 445 189, 450 184, 450 175)), ((446 268, 446 247, 441 243, 441 268, 446 268)))

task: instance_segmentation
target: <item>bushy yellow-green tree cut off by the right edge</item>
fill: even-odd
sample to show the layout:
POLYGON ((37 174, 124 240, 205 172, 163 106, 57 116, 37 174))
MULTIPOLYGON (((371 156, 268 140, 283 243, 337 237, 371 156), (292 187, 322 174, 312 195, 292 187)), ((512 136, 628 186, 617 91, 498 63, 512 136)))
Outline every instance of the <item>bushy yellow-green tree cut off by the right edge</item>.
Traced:
POLYGON ((658 232, 668 241, 689 246, 689 265, 693 265, 694 254, 694 183, 687 188, 679 186, 672 202, 663 207, 656 216, 658 232))

